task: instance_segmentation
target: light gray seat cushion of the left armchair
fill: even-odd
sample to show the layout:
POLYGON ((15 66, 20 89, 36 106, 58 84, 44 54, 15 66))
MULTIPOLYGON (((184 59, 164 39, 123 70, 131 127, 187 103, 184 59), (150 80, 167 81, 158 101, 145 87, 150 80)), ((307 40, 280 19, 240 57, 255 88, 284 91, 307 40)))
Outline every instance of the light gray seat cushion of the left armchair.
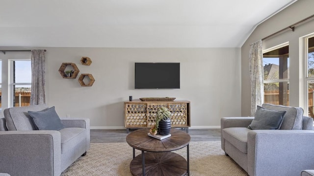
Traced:
POLYGON ((61 134, 61 154, 71 152, 78 145, 86 145, 86 129, 64 128, 59 130, 61 134))

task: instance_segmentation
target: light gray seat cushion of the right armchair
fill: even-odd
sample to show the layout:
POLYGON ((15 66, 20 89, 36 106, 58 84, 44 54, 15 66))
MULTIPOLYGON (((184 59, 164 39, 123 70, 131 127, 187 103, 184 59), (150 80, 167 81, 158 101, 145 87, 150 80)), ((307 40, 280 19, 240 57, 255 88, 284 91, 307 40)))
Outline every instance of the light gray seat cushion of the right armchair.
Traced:
POLYGON ((222 130, 223 138, 234 145, 239 151, 247 154, 247 133, 251 130, 245 127, 232 127, 222 130))

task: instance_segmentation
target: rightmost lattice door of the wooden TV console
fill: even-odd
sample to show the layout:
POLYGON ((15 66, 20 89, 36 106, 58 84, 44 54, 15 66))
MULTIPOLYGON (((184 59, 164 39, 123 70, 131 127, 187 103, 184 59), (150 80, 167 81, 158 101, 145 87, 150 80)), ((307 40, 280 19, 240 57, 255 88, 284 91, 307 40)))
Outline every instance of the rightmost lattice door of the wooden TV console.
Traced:
POLYGON ((168 109, 171 112, 171 127, 187 126, 187 104, 186 103, 169 103, 168 109))

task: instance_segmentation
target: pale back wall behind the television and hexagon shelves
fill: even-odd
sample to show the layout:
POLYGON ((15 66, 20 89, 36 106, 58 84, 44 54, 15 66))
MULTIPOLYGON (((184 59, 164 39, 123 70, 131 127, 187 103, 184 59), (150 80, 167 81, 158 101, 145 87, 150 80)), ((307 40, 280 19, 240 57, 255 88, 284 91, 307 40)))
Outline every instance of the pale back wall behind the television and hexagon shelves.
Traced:
MULTIPOLYGON (((92 128, 123 128, 123 102, 129 95, 133 99, 176 97, 191 101, 192 128, 219 128, 221 117, 240 115, 240 48, 45 49, 47 104, 55 106, 61 117, 89 117, 92 128), (92 64, 81 65, 82 56, 91 58, 92 64), (63 79, 58 72, 63 62, 75 63, 80 70, 78 77, 91 73, 94 85, 81 87, 78 77, 63 79), (135 62, 181 63, 181 88, 134 89, 135 62)), ((18 54, 0 53, 0 59, 18 54)), ((30 57, 30 53, 24 55, 30 57)), ((158 74, 152 74, 155 76, 158 74)))

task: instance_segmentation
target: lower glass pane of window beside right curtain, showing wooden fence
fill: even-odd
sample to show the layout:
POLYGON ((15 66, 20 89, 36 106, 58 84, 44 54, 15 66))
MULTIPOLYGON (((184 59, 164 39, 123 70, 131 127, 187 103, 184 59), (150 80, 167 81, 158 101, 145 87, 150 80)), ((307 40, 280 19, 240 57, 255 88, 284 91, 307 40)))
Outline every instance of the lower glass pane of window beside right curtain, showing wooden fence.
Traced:
POLYGON ((289 106, 288 82, 264 84, 264 103, 289 106))

